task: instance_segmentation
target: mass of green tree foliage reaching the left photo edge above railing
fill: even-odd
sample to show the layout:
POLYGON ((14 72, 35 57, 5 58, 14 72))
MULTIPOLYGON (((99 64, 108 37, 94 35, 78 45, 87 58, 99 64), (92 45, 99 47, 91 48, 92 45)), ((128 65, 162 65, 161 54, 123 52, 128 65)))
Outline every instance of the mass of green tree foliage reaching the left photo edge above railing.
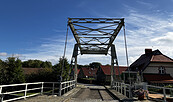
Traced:
POLYGON ((23 83, 25 77, 22 70, 22 62, 14 57, 9 57, 5 62, 0 61, 0 83, 23 83))

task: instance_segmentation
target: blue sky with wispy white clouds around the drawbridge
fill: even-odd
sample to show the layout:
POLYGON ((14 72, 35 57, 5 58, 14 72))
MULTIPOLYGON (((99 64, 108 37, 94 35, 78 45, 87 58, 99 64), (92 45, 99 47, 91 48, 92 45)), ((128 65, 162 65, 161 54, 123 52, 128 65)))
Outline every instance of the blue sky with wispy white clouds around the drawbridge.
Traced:
MULTIPOLYGON (((63 56, 68 17, 125 18, 128 60, 145 48, 173 58, 173 0, 0 0, 0 59, 16 56, 58 63, 63 56)), ((74 40, 68 31, 66 58, 74 40)), ((121 30, 114 41, 120 65, 127 65, 121 30)), ((78 64, 110 64, 107 55, 78 55, 78 64)))

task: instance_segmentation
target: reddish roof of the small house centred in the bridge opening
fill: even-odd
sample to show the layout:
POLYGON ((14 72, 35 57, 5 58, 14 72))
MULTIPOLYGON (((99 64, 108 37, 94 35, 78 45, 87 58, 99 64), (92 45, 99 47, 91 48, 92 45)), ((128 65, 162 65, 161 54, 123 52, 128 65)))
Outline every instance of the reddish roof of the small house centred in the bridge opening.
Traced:
POLYGON ((94 76, 97 73, 98 68, 81 68, 85 76, 94 76))

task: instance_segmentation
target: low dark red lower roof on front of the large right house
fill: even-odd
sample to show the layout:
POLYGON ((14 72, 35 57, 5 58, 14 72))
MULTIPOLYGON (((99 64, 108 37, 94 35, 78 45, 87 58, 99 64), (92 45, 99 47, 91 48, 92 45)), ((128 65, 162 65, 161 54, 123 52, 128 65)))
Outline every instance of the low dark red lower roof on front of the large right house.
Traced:
POLYGON ((173 83, 170 74, 144 74, 144 79, 151 83, 173 83))

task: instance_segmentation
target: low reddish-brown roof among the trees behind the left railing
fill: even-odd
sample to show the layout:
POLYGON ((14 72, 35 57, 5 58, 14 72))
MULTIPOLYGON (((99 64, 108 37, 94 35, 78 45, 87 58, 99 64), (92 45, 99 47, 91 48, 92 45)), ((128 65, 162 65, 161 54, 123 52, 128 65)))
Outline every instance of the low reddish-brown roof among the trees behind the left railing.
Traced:
POLYGON ((43 68, 22 68, 24 74, 36 74, 42 70, 44 70, 43 68))

